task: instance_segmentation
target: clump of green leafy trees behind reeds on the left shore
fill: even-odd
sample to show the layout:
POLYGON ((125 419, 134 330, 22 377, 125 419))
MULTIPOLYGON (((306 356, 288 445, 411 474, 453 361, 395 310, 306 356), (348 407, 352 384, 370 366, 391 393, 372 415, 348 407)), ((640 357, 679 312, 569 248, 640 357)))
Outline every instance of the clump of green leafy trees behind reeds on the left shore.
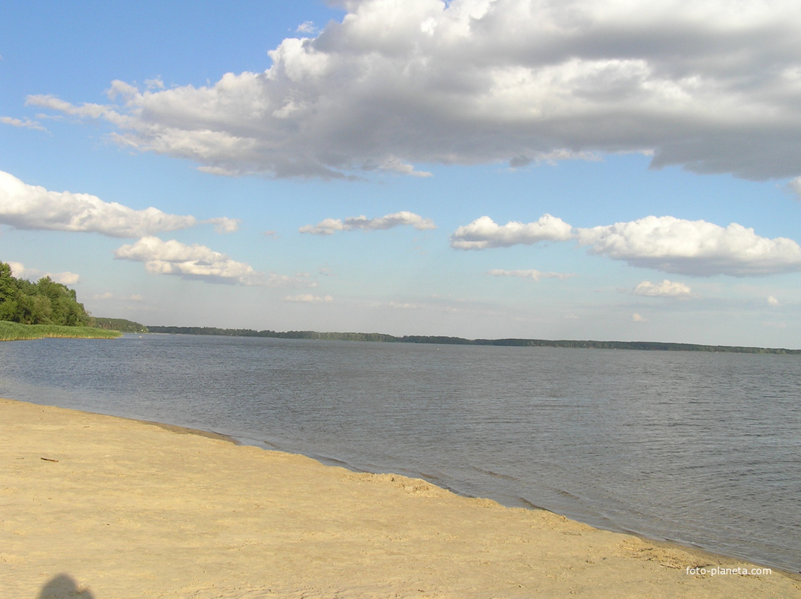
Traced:
POLYGON ((68 327, 91 327, 93 321, 73 289, 49 276, 36 283, 17 279, 5 262, 0 262, 0 320, 68 327))

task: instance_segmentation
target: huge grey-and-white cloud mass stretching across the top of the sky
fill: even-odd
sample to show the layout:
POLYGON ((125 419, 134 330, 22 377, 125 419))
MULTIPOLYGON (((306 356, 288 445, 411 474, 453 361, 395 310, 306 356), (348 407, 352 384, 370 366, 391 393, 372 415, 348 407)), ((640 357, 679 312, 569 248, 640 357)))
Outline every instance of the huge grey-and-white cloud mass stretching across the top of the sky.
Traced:
POLYGON ((361 0, 263 72, 111 83, 103 119, 140 151, 219 174, 343 177, 414 164, 647 151, 652 165, 801 175, 801 5, 792 0, 361 0))

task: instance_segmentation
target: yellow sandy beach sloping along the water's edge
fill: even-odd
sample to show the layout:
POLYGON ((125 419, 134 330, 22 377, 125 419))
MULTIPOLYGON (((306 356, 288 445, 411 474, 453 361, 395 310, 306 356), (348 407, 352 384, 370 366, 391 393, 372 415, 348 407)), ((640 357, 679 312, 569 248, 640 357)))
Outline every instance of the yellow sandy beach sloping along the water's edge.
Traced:
POLYGON ((136 420, 0 400, 0 597, 801 597, 801 579, 136 420), (688 574, 705 567, 706 575, 688 574))

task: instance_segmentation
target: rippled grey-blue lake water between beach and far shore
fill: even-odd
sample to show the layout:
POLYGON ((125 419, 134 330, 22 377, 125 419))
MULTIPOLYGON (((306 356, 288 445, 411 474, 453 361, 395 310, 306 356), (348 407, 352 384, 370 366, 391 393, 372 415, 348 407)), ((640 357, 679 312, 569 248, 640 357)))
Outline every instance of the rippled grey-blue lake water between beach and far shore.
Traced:
POLYGON ((222 432, 801 570, 801 356, 125 336, 0 396, 222 432))

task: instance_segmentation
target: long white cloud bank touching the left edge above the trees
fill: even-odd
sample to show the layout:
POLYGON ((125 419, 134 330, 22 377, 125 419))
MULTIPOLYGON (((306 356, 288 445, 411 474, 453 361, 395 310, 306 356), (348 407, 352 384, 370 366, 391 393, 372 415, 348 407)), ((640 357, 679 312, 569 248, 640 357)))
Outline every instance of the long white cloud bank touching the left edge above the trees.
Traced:
MULTIPOLYGON (((239 221, 220 217, 218 232, 236 231, 239 221)), ((154 207, 134 210, 96 195, 47 191, 0 171, 0 223, 17 229, 94 232, 109 237, 136 238, 195 227, 194 216, 170 215, 154 207)))

